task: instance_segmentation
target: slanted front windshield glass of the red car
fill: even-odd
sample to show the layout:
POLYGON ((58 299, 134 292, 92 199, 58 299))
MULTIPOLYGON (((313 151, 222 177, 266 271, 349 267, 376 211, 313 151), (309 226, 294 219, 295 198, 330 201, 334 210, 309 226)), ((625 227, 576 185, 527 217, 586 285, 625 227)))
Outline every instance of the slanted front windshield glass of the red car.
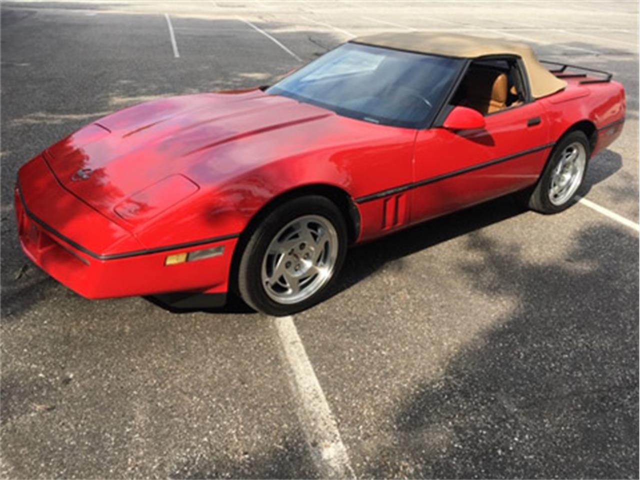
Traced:
POLYGON ((266 90, 374 124, 418 128, 436 115, 463 60, 341 45, 266 90))

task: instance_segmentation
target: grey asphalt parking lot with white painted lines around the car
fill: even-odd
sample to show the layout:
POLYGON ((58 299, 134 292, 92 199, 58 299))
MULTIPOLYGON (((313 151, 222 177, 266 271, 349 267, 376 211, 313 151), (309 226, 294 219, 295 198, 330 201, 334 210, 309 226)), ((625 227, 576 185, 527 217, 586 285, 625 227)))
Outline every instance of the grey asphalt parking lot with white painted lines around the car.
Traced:
POLYGON ((638 477, 637 3, 0 8, 3 478, 638 477), (627 121, 582 191, 605 214, 507 197, 430 221, 353 248, 337 293, 290 323, 237 301, 175 314, 85 300, 22 254, 15 175, 54 141, 408 29, 612 71, 627 121))

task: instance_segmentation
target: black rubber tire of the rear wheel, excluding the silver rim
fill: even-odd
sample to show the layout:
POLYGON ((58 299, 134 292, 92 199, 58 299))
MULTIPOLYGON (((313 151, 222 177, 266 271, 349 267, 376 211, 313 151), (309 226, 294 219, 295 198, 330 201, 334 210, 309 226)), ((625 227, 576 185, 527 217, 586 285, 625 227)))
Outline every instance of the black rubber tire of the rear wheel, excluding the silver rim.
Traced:
POLYGON ((575 203, 577 192, 580 191, 582 183, 584 182, 584 177, 586 177, 586 171, 589 166, 589 157, 591 157, 591 148, 589 147, 589 140, 584 132, 576 130, 573 132, 568 132, 568 134, 564 135, 556 143, 556 147, 554 147, 554 149, 552 150, 547 161, 547 166, 545 166, 545 170, 542 172, 542 175, 538 180, 538 184, 536 184, 533 193, 531 193, 531 196, 529 197, 529 208, 536 212, 552 214, 564 211, 568 209, 568 207, 573 205, 575 203), (551 188, 553 172, 561 159, 564 149, 574 142, 581 143, 584 147, 584 151, 586 152, 584 173, 582 174, 580 185, 575 190, 573 195, 568 198, 563 204, 556 205, 553 204, 549 198, 549 189, 551 188))

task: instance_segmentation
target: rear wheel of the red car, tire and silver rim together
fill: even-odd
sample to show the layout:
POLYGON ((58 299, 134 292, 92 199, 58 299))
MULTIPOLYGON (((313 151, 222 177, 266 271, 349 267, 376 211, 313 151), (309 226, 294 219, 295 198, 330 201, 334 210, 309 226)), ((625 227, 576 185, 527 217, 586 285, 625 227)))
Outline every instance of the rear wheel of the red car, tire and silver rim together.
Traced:
POLYGON ((529 199, 529 207, 557 213, 573 204, 587 170, 589 141, 580 131, 570 132, 554 148, 547 168, 529 199))

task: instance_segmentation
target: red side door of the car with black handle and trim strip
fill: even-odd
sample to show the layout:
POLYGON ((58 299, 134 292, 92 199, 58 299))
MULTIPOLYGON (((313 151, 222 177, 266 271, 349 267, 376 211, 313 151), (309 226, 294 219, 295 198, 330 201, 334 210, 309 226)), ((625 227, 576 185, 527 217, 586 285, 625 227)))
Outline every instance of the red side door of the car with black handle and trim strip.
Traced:
MULTIPOLYGON (((472 67, 467 76, 471 70, 472 67)), ((513 75, 508 76, 508 82, 513 75)), ((489 78, 491 96, 501 100, 495 108, 480 108, 474 99, 467 99, 469 108, 483 113, 483 129, 454 131, 435 127, 418 132, 412 222, 506 195, 538 180, 552 147, 548 145, 545 111, 535 101, 514 100, 511 106, 506 105, 504 90, 510 86, 504 85, 504 72, 489 78), (499 91, 493 90, 496 81, 503 83, 499 91)), ((481 83, 477 77, 470 80, 474 86, 481 83)), ((463 79, 462 85, 464 82, 463 79)), ((523 99, 527 96, 526 92, 522 94, 523 99)))

